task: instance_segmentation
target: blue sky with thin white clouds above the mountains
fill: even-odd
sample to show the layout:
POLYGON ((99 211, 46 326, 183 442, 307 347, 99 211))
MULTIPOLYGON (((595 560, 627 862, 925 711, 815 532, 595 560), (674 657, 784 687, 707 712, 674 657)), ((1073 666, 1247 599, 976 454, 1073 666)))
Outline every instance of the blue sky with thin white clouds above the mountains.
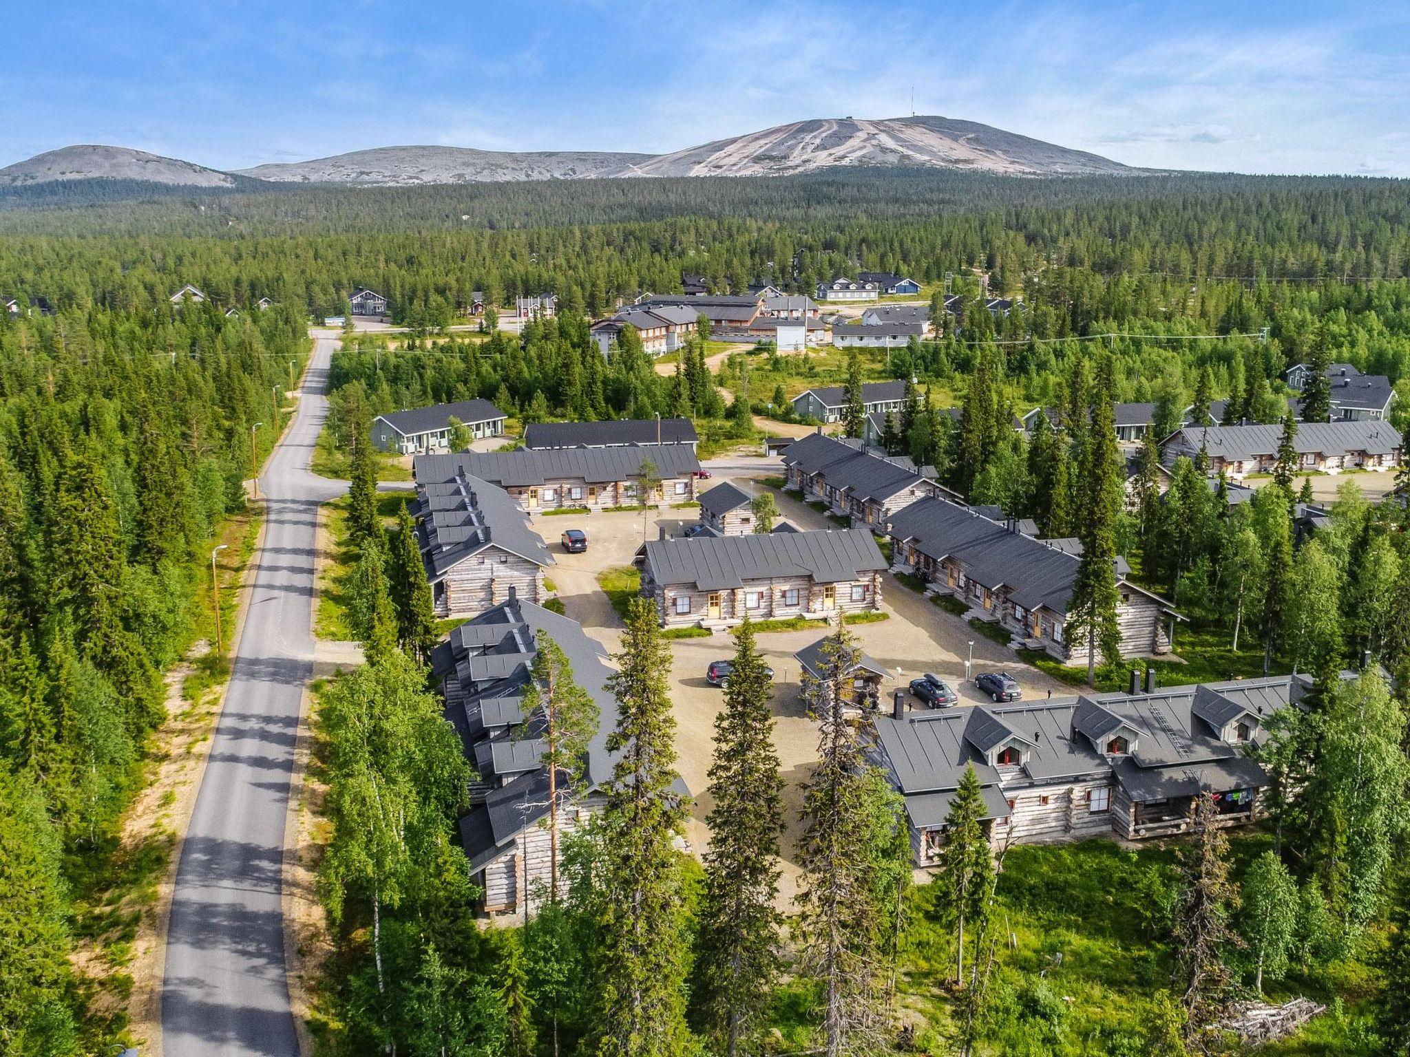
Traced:
MULTIPOLYGON (((8 20, 17 28, 14 18, 8 20)), ((0 165, 367 147, 671 151, 945 114, 1132 165, 1410 176, 1410 4, 56 0, 0 62, 0 165)))

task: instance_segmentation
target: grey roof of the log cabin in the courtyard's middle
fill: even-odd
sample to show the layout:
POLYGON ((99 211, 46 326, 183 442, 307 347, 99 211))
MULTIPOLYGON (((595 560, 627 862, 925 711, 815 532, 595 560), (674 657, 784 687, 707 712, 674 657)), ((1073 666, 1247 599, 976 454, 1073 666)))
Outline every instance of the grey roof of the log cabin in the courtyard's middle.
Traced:
POLYGON ((814 533, 651 540, 644 572, 661 585, 701 591, 742 588, 749 581, 809 576, 818 583, 860 579, 887 568, 871 533, 839 528, 814 533))

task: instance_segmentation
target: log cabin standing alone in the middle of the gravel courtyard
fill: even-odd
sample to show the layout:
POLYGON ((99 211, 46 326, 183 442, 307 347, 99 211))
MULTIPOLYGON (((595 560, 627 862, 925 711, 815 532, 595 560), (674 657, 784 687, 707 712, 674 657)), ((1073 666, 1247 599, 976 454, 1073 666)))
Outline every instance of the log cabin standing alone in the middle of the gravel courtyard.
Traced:
POLYGON ((642 595, 661 627, 716 630, 746 614, 832 620, 881 606, 885 558, 866 530, 674 540, 661 533, 642 562, 642 595))

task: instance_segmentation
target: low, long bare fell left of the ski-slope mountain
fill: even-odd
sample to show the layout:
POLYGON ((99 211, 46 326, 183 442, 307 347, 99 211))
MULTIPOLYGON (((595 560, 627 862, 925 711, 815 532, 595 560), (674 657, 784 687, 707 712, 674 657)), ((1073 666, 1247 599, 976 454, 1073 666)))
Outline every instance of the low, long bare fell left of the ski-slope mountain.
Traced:
POLYGON ((477 151, 468 147, 379 147, 309 162, 257 165, 241 176, 307 183, 481 183, 616 176, 650 161, 613 151, 477 151))

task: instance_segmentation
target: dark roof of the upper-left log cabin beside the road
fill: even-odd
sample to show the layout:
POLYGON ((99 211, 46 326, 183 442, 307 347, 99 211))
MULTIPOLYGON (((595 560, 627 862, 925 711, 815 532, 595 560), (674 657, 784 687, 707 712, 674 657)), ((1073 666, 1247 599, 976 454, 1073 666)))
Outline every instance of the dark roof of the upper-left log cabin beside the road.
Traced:
POLYGON ((412 516, 426 575, 433 583, 491 545, 537 565, 554 564, 519 503, 502 488, 468 474, 447 482, 417 483, 412 516))

